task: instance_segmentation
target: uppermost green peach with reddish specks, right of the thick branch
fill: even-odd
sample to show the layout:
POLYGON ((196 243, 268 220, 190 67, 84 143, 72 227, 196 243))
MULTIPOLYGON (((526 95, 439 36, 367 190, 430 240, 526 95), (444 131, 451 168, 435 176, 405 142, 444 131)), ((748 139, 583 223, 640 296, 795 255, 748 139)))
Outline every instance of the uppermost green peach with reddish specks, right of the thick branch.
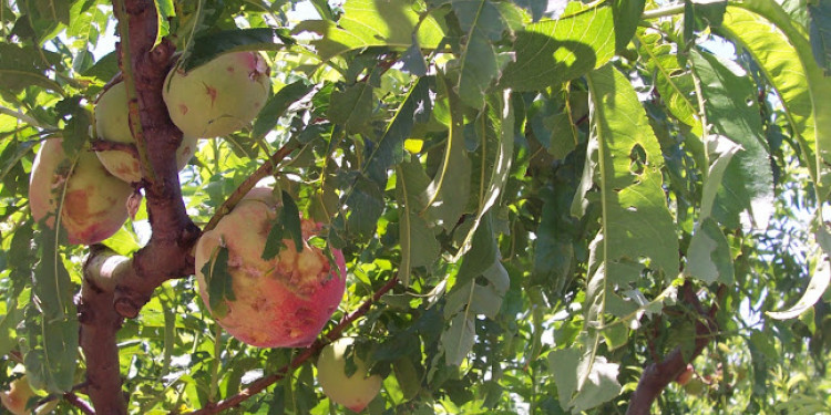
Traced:
POLYGON ((257 52, 235 52, 182 72, 162 91, 171 120, 185 136, 218 137, 248 125, 268 98, 268 65, 257 52))

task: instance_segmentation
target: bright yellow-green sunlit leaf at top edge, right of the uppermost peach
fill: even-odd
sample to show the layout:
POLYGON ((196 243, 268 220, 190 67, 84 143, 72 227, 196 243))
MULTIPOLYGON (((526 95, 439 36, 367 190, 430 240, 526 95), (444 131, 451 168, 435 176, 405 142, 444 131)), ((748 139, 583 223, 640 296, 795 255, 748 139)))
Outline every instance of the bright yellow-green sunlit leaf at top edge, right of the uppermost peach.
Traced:
POLYGON ((322 37, 311 41, 322 61, 369 46, 403 50, 413 44, 413 38, 421 48, 434 49, 444 37, 444 29, 433 15, 422 18, 406 1, 348 0, 337 23, 305 20, 295 25, 293 33, 304 31, 322 37))

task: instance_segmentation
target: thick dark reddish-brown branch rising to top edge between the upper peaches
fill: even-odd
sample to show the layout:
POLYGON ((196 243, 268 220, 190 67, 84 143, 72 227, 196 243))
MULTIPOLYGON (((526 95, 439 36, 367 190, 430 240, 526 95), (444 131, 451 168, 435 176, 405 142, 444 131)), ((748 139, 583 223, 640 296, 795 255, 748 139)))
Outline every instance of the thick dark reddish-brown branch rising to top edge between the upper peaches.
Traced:
MULTIPOLYGON (((122 37, 122 73, 124 82, 134 85, 131 98, 138 154, 146 152, 142 163, 146 178, 144 189, 153 235, 146 247, 136 252, 132 271, 119 276, 114 292, 115 310, 126 318, 138 315, 153 291, 164 281, 193 273, 191 249, 199 237, 199 229, 187 216, 176 167, 176 148, 182 132, 176 128, 162 100, 164 79, 170 70, 175 46, 167 40, 154 46, 157 32, 156 9, 150 0, 115 0, 120 24, 126 24, 122 37), (126 48, 125 48, 126 46, 126 48), (137 114, 136 114, 137 110, 137 114)), ((124 29, 124 28, 122 28, 124 29)), ((130 93, 129 93, 130 94, 130 93)))

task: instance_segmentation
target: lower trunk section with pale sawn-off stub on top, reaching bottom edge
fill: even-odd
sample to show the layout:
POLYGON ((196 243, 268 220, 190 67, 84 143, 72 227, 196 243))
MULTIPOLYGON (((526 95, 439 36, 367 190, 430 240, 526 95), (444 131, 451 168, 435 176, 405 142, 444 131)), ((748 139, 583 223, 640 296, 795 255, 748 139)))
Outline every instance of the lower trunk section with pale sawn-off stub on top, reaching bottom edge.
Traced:
POLYGON ((84 281, 78 305, 80 343, 86 356, 86 393, 99 414, 126 414, 115 343, 115 334, 123 319, 112 308, 113 276, 125 262, 119 260, 123 257, 117 257, 103 246, 93 246, 91 251, 84 264, 84 281))

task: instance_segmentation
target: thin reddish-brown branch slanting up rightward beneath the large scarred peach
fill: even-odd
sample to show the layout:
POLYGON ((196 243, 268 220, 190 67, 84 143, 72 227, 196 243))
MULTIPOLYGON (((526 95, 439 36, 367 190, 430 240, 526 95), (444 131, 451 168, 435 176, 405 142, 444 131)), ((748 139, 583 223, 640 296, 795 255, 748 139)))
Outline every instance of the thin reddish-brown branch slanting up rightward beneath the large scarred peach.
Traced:
POLYGON ((266 387, 279 382, 291 370, 299 367, 306 361, 308 361, 309 359, 318 354, 318 352, 320 352, 320 349, 322 349, 326 344, 340 338, 341 333, 343 332, 346 328, 352 324, 361 315, 366 314, 367 311, 369 311, 370 307, 372 307, 373 303, 378 302, 378 300, 383 294, 392 290, 397 283, 398 283, 398 277, 391 278, 389 281, 387 281, 386 284, 383 284, 383 287, 378 289, 378 291, 376 291, 371 298, 367 299, 367 301, 365 301, 357 310, 345 315, 340 320, 340 322, 338 322, 336 326, 329 330, 329 332, 327 332, 321 339, 318 339, 310 346, 304 349, 304 351, 300 352, 300 354, 298 354, 295 359, 293 359, 291 362, 289 362, 289 364, 280 367, 279 370, 277 370, 277 372, 252 382, 248 385, 248 387, 244 388, 243 391, 240 391, 238 394, 234 396, 230 396, 224 401, 219 401, 216 404, 209 405, 207 407, 204 407, 191 414, 192 415, 219 414, 223 411, 226 411, 234 406, 239 405, 240 403, 248 400, 249 397, 263 392, 266 387))

